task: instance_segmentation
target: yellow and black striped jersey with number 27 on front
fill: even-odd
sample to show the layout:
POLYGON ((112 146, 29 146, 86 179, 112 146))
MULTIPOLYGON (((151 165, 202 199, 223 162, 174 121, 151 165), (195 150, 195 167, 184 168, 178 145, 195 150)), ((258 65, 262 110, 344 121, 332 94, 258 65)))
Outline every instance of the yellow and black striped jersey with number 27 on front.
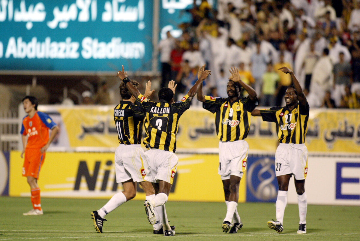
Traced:
POLYGON ((309 120, 309 104, 298 103, 292 111, 288 107, 275 106, 269 110, 260 110, 262 120, 276 123, 279 143, 305 143, 307 121, 309 120))

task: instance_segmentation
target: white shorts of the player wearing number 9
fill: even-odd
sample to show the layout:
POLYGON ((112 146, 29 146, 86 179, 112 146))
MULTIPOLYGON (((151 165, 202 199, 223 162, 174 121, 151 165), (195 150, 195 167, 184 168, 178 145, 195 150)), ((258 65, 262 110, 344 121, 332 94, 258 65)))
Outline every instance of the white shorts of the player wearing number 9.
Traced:
POLYGON ((249 144, 245 140, 219 142, 219 170, 221 180, 230 179, 230 175, 243 177, 246 170, 249 144))

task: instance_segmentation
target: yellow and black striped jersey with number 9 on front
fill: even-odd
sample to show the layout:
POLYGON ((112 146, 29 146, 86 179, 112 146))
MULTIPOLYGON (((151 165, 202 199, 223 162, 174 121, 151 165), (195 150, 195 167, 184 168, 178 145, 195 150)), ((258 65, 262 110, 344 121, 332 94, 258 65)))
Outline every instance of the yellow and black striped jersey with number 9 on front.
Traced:
POLYGON ((258 105, 257 99, 238 98, 230 102, 229 98, 205 96, 203 108, 215 116, 216 135, 223 142, 243 140, 250 129, 251 112, 258 105))

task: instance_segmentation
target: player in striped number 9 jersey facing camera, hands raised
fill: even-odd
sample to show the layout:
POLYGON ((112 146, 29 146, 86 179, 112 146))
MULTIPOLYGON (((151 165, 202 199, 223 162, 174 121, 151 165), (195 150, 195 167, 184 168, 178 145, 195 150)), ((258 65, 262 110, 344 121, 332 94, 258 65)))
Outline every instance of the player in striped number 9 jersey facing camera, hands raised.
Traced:
POLYGON ((215 127, 219 142, 219 170, 228 207, 221 227, 223 232, 236 233, 243 226, 237 211, 239 184, 246 170, 249 145, 244 140, 250 128, 251 111, 257 106, 256 92, 240 79, 239 70, 231 68, 231 77, 226 86, 228 98, 204 96, 202 87, 198 91, 198 100, 203 108, 215 116, 215 127), (244 88, 249 96, 240 98, 244 88))

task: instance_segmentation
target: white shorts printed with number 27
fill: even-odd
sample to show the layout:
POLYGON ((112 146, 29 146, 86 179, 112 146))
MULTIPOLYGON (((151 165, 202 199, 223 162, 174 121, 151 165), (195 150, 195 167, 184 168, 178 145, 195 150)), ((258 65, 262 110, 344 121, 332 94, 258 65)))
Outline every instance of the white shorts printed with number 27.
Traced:
POLYGON ((308 156, 305 144, 280 143, 275 152, 276 177, 293 174, 296 180, 306 179, 308 156))

